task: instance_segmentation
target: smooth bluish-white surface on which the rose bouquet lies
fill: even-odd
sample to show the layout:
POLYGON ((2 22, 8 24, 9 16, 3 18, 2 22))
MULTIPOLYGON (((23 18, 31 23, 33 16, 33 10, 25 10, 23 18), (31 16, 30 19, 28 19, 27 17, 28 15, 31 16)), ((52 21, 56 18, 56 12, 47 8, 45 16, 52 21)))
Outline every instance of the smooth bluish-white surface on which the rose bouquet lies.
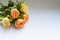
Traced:
POLYGON ((22 29, 0 24, 0 40, 60 40, 60 9, 30 5, 29 20, 22 29))

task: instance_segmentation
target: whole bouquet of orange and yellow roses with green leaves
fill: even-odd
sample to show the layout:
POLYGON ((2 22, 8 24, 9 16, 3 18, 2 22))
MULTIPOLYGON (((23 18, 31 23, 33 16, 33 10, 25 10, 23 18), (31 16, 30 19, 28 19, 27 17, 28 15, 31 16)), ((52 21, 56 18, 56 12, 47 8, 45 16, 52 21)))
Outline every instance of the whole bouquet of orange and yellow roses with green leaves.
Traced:
POLYGON ((4 27, 9 28, 14 22, 16 28, 22 28, 27 22, 29 16, 26 0, 20 2, 9 0, 8 5, 0 3, 0 6, 0 21, 4 27))

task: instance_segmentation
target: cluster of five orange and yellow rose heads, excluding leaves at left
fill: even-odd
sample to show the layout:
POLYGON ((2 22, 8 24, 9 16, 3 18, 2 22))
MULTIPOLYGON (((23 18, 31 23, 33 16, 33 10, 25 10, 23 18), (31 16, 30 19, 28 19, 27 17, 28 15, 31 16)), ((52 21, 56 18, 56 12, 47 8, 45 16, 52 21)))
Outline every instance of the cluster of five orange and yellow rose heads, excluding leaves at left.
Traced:
POLYGON ((10 15, 2 20, 2 24, 5 27, 10 27, 11 23, 14 22, 16 28, 21 28, 27 22, 28 17, 28 7, 21 3, 19 10, 17 8, 10 10, 10 15))

